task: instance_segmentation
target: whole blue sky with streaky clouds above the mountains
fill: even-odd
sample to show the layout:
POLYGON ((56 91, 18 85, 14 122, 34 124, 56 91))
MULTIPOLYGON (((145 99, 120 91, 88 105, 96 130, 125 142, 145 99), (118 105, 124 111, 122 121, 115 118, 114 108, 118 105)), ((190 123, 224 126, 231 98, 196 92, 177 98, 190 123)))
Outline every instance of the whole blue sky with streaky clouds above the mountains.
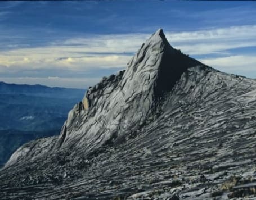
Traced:
POLYGON ((256 78, 254 1, 0 1, 0 81, 86 89, 159 28, 223 72, 256 78))

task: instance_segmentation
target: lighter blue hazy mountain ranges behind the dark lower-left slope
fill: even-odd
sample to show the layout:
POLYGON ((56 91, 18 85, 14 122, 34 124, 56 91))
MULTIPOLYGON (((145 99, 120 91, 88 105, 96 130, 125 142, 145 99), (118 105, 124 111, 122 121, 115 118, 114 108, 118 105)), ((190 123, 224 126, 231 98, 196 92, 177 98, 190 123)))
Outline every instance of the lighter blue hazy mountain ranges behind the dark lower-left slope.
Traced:
POLYGON ((52 130, 56 124, 59 129, 83 95, 82 89, 0 82, 0 130, 52 130))

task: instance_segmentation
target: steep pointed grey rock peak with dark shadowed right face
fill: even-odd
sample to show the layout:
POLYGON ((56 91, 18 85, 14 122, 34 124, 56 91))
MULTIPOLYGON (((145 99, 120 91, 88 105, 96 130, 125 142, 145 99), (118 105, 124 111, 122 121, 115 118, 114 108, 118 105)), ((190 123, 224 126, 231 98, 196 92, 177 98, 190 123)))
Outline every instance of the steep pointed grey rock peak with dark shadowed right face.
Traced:
POLYGON ((54 149, 86 149, 83 154, 90 154, 105 144, 124 141, 155 116, 161 97, 172 90, 183 72, 199 65, 203 64, 171 47, 158 29, 142 44, 126 71, 88 89, 82 102, 69 112, 54 149))

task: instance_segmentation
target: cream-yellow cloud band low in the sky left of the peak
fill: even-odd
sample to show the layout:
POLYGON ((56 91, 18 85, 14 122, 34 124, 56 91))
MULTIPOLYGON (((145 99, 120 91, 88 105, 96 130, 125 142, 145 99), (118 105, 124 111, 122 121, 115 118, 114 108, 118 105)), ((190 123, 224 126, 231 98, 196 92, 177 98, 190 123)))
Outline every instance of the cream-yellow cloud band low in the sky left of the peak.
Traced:
MULTIPOLYGON (((82 51, 82 49, 79 49, 82 51)), ((0 55, 0 66, 12 69, 60 69, 89 70, 95 67, 123 67, 131 56, 109 54, 84 54, 72 52, 75 49, 65 47, 38 47, 15 49, 0 55)))

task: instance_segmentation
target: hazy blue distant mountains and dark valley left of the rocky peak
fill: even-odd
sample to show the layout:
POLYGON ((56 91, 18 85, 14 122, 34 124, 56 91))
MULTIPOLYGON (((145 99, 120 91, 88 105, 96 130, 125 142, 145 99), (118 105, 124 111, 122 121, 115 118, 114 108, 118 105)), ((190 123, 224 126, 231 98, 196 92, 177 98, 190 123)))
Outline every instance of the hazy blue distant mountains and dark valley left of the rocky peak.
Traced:
POLYGON ((82 89, 0 82, 0 165, 22 144, 60 133, 82 89))

